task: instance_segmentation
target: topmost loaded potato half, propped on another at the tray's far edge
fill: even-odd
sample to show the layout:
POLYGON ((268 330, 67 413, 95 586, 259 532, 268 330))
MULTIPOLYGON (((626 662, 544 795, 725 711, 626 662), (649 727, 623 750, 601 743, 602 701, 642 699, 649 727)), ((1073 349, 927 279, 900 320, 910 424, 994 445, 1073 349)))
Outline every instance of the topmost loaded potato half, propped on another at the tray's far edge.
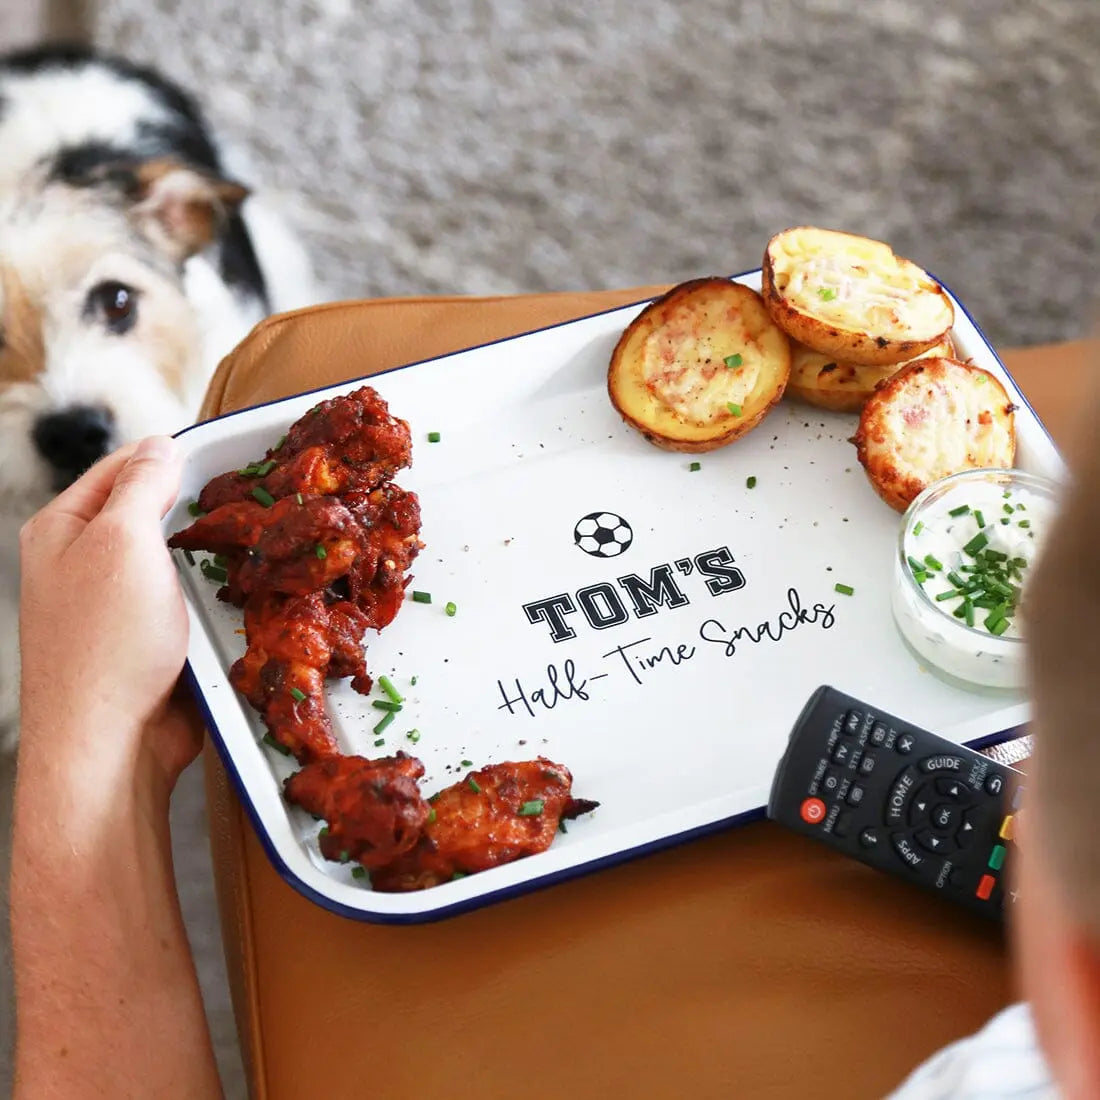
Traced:
POLYGON ((768 242, 761 294, 792 340, 864 366, 915 359, 955 321, 944 288, 888 244, 810 226, 768 242))

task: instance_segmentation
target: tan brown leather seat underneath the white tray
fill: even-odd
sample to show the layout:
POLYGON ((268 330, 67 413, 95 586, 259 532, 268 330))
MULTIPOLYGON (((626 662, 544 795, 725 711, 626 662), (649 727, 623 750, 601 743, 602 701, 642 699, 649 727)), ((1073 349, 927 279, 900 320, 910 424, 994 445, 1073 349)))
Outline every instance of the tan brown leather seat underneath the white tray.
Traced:
MULTIPOLYGON (((659 288, 323 306, 222 363, 206 416, 659 288)), ((1080 345, 1010 358, 1064 439, 1080 345)), ((516 363, 522 370, 522 363, 516 363)), ((770 824, 439 924, 334 916, 268 864, 206 757, 253 1096, 882 1096, 1012 997, 999 930, 770 824)))

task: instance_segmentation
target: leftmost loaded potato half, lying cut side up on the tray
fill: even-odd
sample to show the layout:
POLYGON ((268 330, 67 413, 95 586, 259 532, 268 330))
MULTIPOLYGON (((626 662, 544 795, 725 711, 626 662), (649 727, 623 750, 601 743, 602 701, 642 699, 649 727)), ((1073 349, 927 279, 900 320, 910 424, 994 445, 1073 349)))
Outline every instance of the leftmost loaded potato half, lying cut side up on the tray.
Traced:
POLYGON ((783 396, 791 345, 760 295, 692 279, 650 302, 612 354, 607 392, 656 447, 697 453, 747 435, 783 396))

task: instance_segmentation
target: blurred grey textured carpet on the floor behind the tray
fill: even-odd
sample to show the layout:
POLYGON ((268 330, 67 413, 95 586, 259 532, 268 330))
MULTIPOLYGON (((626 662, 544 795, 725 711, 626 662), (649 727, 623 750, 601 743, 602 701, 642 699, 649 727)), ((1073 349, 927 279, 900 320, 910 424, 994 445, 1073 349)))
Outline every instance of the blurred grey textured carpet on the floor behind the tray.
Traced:
MULTIPOLYGON (((1001 344, 1077 336, 1097 297, 1096 0, 94 8, 199 94, 334 295, 738 271, 812 222, 890 241, 1001 344)), ((197 782, 176 823, 239 1096, 197 782)))

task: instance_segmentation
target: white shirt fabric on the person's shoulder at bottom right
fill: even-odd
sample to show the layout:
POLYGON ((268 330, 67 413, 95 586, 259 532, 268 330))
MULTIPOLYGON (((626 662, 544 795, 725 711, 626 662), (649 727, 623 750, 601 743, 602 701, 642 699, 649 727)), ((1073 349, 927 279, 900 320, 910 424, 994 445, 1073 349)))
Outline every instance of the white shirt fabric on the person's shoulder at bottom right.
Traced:
POLYGON ((1026 1004, 917 1067, 889 1100, 1059 1100, 1026 1004))

